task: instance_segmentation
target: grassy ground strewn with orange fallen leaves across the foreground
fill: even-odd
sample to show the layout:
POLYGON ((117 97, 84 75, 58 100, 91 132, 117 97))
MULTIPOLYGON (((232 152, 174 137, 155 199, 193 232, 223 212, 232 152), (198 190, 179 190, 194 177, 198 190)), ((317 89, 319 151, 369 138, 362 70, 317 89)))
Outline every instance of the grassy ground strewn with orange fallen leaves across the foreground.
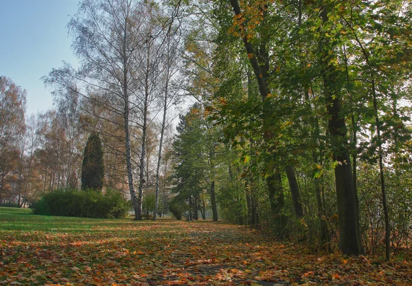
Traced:
POLYGON ((411 257, 313 254, 244 226, 5 210, 0 285, 412 285, 411 257))

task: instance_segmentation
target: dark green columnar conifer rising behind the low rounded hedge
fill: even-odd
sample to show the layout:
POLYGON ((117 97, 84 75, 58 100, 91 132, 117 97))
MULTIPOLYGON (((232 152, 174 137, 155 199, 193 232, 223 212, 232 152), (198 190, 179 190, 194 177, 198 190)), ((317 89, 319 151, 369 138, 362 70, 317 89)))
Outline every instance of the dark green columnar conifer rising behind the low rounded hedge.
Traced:
POLYGON ((84 148, 82 164, 82 190, 101 191, 104 178, 104 162, 102 141, 99 134, 93 133, 84 148))

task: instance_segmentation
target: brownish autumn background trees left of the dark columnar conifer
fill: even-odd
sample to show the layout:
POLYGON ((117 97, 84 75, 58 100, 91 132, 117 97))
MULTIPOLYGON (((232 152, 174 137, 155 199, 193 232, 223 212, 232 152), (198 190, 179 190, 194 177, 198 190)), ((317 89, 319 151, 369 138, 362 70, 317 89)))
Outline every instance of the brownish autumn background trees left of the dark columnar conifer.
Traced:
POLYGON ((0 202, 19 206, 49 189, 77 187, 82 132, 69 108, 25 120, 26 92, 1 77, 0 202), (63 112, 64 110, 64 112, 63 112))

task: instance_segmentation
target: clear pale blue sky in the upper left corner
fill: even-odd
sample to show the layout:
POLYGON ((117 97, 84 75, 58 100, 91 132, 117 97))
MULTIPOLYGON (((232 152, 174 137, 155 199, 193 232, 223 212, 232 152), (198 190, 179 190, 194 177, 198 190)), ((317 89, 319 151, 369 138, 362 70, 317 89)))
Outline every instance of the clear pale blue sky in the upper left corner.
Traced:
POLYGON ((0 0, 0 75, 27 91, 27 115, 52 108, 40 78, 62 61, 75 67, 67 23, 78 0, 0 0))

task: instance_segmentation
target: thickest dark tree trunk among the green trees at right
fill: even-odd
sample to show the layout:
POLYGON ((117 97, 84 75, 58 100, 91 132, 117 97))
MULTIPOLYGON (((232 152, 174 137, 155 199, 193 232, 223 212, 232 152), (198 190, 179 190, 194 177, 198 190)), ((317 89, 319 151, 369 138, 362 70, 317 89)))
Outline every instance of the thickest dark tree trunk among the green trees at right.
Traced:
MULTIPOLYGON (((321 12, 323 23, 328 21, 328 11, 321 12)), ((328 131, 332 140, 333 159, 336 183, 336 197, 339 215, 339 249, 343 254, 361 254, 359 233, 359 216, 356 206, 356 193, 352 177, 352 167, 347 146, 347 128, 342 113, 341 91, 339 90, 339 71, 334 66, 336 56, 330 40, 323 35, 320 47, 321 75, 325 104, 329 115, 328 131)))

